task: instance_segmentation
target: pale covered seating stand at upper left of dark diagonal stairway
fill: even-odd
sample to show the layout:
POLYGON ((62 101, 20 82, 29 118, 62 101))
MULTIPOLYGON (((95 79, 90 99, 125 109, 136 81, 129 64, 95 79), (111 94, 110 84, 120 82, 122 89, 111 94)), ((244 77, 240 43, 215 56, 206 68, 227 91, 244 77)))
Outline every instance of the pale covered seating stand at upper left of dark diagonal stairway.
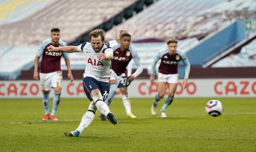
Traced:
MULTIPOLYGON (((133 15, 134 9, 142 10, 144 2, 151 3, 150 0, 0 1, 0 79, 19 79, 20 71, 33 68, 36 50, 42 40, 49 38, 52 27, 61 29, 62 40, 79 45, 88 41, 92 29, 112 28, 124 17, 129 18, 130 13, 133 15), (12 68, 8 68, 10 65, 12 68)), ((78 63, 84 61, 80 54, 74 56, 78 63)), ((84 69, 84 62, 73 65, 74 69, 84 69)))

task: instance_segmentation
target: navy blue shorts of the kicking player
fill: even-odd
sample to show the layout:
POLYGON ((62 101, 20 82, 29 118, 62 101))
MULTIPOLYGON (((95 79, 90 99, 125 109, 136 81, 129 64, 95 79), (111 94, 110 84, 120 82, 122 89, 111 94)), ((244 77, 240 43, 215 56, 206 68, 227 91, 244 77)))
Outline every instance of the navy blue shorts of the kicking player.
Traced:
POLYGON ((101 95, 103 97, 103 101, 108 98, 108 93, 109 93, 109 84, 108 82, 102 82, 98 81, 92 77, 86 76, 83 79, 83 86, 84 86, 84 92, 88 99, 92 101, 93 99, 91 98, 91 91, 94 89, 99 89, 101 92, 101 95))

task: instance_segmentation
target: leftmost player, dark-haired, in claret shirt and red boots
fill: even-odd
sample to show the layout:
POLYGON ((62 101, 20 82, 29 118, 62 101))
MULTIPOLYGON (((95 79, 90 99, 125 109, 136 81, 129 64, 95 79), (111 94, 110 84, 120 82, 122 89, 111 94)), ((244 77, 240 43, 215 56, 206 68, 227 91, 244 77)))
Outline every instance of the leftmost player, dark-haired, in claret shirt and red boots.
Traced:
POLYGON ((58 105, 60 104, 60 94, 62 88, 62 71, 60 69, 60 60, 61 57, 64 57, 66 66, 68 68, 68 78, 70 81, 73 81, 72 72, 70 69, 70 60, 68 57, 68 53, 60 53, 60 52, 49 52, 46 48, 50 45, 54 47, 63 47, 66 46, 66 43, 60 40, 60 29, 53 28, 51 29, 51 39, 46 39, 42 41, 38 52, 36 53, 36 57, 34 60, 34 75, 33 78, 38 80, 40 77, 40 81, 42 84, 42 92, 43 92, 43 107, 45 111, 43 121, 47 121, 51 119, 52 121, 58 121, 55 117, 56 111, 58 109, 58 105), (38 74, 38 63, 39 58, 42 57, 40 73, 38 74), (52 104, 52 112, 51 116, 49 114, 49 92, 50 89, 54 88, 54 97, 52 104))

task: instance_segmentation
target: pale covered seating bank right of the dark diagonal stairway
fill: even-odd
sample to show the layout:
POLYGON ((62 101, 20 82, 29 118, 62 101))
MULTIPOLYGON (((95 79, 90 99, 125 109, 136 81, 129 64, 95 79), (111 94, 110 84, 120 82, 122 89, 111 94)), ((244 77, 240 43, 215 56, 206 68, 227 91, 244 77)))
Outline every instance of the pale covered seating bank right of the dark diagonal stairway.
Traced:
POLYGON ((255 18, 255 8, 255 0, 158 0, 107 31, 106 39, 116 39, 115 33, 120 29, 140 38, 200 39, 236 19, 255 18))

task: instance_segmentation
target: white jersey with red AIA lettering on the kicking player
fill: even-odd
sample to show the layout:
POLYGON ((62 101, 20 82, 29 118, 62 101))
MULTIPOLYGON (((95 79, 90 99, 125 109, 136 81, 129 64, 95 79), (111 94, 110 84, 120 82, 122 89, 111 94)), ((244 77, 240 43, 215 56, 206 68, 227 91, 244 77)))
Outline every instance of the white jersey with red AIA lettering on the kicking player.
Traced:
POLYGON ((103 43, 102 49, 95 52, 90 42, 84 42, 77 47, 79 52, 84 52, 86 56, 86 68, 84 70, 84 78, 86 76, 95 78, 98 81, 108 82, 110 78, 110 68, 112 60, 98 60, 97 55, 100 53, 113 52, 111 47, 103 43))

